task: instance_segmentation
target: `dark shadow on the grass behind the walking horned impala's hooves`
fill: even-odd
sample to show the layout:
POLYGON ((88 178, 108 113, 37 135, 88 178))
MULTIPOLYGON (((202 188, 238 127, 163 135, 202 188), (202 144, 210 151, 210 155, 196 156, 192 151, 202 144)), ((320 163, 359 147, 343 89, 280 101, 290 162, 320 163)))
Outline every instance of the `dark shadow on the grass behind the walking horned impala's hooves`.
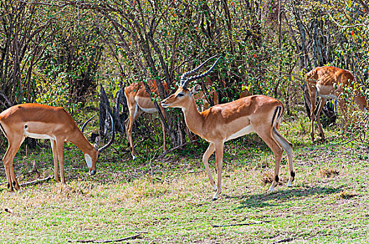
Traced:
POLYGON ((270 194, 262 193, 254 195, 240 195, 236 197, 228 196, 227 198, 243 199, 238 208, 263 208, 267 206, 278 206, 281 204, 281 202, 293 201, 299 197, 309 197, 312 195, 331 195, 341 191, 342 190, 338 188, 291 188, 288 190, 279 190, 270 194))

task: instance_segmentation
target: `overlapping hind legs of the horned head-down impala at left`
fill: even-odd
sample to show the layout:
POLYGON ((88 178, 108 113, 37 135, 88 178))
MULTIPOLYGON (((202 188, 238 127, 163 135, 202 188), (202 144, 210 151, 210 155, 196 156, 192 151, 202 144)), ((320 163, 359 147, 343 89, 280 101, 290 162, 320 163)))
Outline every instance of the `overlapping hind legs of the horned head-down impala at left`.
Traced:
POLYGON ((14 192, 14 188, 15 190, 20 190, 20 185, 17 181, 17 177, 15 177, 13 160, 23 141, 24 137, 12 137, 11 139, 8 139, 8 149, 3 156, 3 165, 5 167, 9 192, 14 192))

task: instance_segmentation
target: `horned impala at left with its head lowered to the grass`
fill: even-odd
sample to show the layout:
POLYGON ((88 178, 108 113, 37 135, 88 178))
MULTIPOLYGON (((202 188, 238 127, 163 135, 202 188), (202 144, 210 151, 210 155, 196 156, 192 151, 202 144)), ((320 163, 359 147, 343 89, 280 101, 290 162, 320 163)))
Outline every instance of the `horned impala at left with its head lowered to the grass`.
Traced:
MULTIPOLYGON (((92 118, 91 118, 92 119, 92 118)), ((82 131, 85 125, 82 125, 82 131)), ((113 119, 111 118, 112 128, 113 119)), ((15 105, 4 110, 0 114, 0 128, 8 139, 8 150, 3 157, 3 164, 8 180, 8 189, 13 192, 13 187, 20 190, 20 185, 15 178, 13 160, 20 145, 26 137, 37 139, 50 139, 52 156, 54 158, 55 181, 59 182, 58 161, 60 166, 61 182, 65 183, 64 178, 64 142, 71 142, 78 146, 85 155, 89 174, 96 174, 96 160, 99 153, 113 143, 115 132, 108 144, 102 148, 92 145, 82 134, 72 117, 62 107, 50 107, 36 103, 25 103, 15 105)))

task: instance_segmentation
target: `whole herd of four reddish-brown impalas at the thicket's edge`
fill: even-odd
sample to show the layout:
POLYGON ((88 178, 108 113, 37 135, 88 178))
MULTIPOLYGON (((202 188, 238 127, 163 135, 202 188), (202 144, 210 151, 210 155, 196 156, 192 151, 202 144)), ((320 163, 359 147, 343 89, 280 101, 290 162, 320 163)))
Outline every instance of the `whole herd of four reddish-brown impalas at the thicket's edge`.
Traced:
MULTIPOLYGON (((162 100, 159 103, 159 108, 164 115, 164 119, 164 108, 181 108, 189 130, 209 142, 208 149, 203 154, 203 164, 205 165, 210 185, 212 185, 212 188, 215 190, 215 195, 212 199, 218 199, 222 192, 224 142, 247 135, 251 132, 256 132, 275 155, 275 173, 273 183, 270 185, 268 192, 271 192, 279 181, 280 162, 283 150, 287 153, 288 157, 288 186, 291 186, 295 178, 294 166, 292 163, 292 144, 287 141, 278 130, 284 110, 280 100, 263 95, 246 96, 224 104, 217 104, 215 101, 214 106, 208 109, 201 109, 203 110, 201 112, 198 111, 196 99, 201 99, 202 96, 197 95, 196 97, 196 93, 201 93, 201 86, 196 84, 189 89, 188 84, 191 81, 201 79, 208 75, 215 67, 220 57, 205 73, 195 75, 198 70, 205 66, 205 63, 210 61, 210 59, 201 63, 201 65, 194 70, 184 73, 180 78, 180 86, 178 86, 177 91, 175 91, 173 95, 162 100), (217 183, 215 183, 212 178, 212 173, 208 165, 208 159, 214 152, 217 166, 217 183)), ((345 89, 354 88, 356 89, 355 91, 358 91, 354 93, 354 101, 359 105, 360 109, 368 109, 368 101, 361 96, 361 93, 357 89, 359 84, 356 82, 354 75, 348 70, 335 67, 314 68, 314 70, 307 73, 306 82, 312 103, 310 111, 312 142, 314 142, 315 119, 317 120, 321 139, 325 139, 319 114, 326 100, 337 98, 341 109, 345 109, 345 100, 341 95, 345 92, 345 89), (317 109, 315 109, 317 96, 319 96, 320 102, 317 109)), ((158 94, 156 81, 150 80, 148 84, 150 85, 151 92, 158 94)), ((162 84, 168 93, 168 85, 165 82, 162 84)), ((127 119, 124 124, 126 126, 126 135, 130 145, 131 155, 134 159, 136 155, 134 153, 132 139, 133 122, 143 112, 154 113, 157 112, 157 109, 150 99, 149 94, 145 91, 143 82, 126 86, 124 95, 126 96, 127 105, 129 107, 129 119, 127 119)), ((216 93, 215 96, 217 96, 216 93)), ((13 169, 13 160, 25 137, 50 139, 56 182, 60 182, 58 176, 59 168, 61 183, 66 182, 64 177, 63 149, 65 142, 71 142, 80 148, 85 155, 89 173, 91 175, 96 174, 96 161, 99 157, 99 153, 113 143, 115 130, 113 118, 110 116, 111 128, 113 130, 112 137, 108 144, 102 148, 98 148, 99 142, 96 142, 95 145, 91 144, 82 133, 90 120, 91 119, 86 121, 80 130, 75 121, 73 121, 71 115, 68 114, 64 108, 32 103, 15 105, 1 112, 0 129, 3 135, 8 139, 8 150, 3 157, 8 190, 10 192, 13 192, 14 188, 15 190, 20 190, 20 185, 17 182, 13 169)), ((164 134, 163 147, 165 151, 166 132, 163 123, 162 127, 164 134)))

